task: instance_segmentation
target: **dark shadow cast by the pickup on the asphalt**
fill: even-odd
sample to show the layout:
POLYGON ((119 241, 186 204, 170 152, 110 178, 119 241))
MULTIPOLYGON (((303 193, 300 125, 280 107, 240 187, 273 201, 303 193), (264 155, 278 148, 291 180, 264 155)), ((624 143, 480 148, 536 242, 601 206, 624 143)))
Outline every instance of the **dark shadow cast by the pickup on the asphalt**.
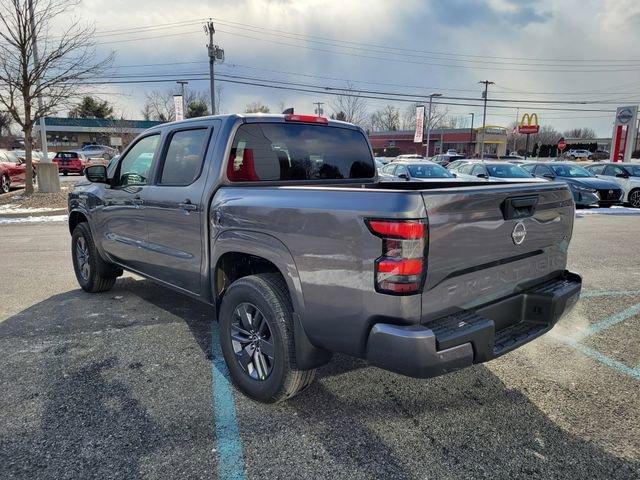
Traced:
MULTIPOLYGON (((210 358, 213 315, 210 307, 149 281, 122 279, 106 294, 66 292, 0 323, 0 380, 8 386, 0 419, 9 426, 0 432, 0 477, 139 478, 150 458, 189 442, 193 430, 206 429, 212 443, 209 422, 179 411, 171 425, 158 421, 149 408, 158 402, 157 390, 132 385, 117 369, 140 367, 94 342, 107 330, 128 335, 129 327, 184 323, 198 347, 182 354, 201 361, 210 358), (71 337, 84 346, 80 357, 72 357, 71 337)), ((177 360, 167 357, 162 361, 170 368, 177 360)), ((560 428, 483 366, 415 380, 336 356, 316 383, 285 404, 235 398, 250 478, 252 472, 403 479, 623 479, 640 473, 637 462, 560 428), (269 441, 265 432, 271 432, 269 441)), ((197 460, 199 474, 212 468, 197 460)), ((165 478, 184 471, 163 468, 165 478)))

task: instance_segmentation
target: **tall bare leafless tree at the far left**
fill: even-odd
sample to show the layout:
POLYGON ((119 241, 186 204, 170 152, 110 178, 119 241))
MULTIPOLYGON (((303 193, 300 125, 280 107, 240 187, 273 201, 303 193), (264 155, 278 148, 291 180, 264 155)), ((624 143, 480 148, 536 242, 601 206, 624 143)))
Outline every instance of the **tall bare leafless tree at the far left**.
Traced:
MULTIPOLYGON (((50 25, 69 16, 77 0, 0 0, 0 106, 22 128, 26 151, 27 195, 33 193, 32 132, 35 122, 53 114, 112 60, 96 60, 94 28, 77 21, 48 36, 50 25), (29 8, 32 5, 33 10, 29 8), (36 39, 39 62, 34 61, 36 39), (41 102, 37 102, 38 97, 41 102)), ((52 189, 59 188, 58 185, 52 189)))

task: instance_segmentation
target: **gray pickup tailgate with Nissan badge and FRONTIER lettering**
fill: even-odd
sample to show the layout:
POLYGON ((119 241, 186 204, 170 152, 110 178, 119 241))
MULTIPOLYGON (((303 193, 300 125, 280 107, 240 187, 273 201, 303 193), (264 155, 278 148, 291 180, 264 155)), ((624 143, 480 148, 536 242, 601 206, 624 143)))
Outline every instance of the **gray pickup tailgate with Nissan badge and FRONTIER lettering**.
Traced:
POLYGON ((566 266, 574 204, 564 184, 438 189, 423 199, 424 321, 515 293, 566 266))

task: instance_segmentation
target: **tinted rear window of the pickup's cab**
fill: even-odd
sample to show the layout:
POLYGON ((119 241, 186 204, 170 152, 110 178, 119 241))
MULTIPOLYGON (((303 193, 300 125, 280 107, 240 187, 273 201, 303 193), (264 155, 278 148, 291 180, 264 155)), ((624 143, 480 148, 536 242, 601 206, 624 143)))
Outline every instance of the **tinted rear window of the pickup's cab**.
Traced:
POLYGON ((303 123, 246 123, 233 140, 231 182, 372 179, 373 156, 358 130, 303 123))

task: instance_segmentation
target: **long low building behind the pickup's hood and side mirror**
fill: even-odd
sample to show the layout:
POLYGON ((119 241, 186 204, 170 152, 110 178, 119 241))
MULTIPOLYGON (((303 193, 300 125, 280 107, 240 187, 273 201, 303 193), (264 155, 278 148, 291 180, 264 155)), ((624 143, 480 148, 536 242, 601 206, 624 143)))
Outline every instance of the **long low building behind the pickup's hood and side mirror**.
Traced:
MULTIPOLYGON (((55 152, 98 144, 122 149, 140 133, 160 123, 152 120, 46 117, 47 148, 55 152)), ((34 126, 33 137, 39 144, 39 124, 34 126)))

